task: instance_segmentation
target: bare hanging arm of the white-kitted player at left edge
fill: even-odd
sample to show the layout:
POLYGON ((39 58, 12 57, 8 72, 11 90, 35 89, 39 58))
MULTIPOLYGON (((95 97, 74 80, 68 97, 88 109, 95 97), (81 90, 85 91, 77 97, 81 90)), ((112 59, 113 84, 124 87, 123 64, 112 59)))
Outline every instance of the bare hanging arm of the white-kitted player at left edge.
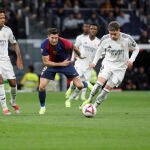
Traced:
POLYGON ((18 67, 18 69, 23 69, 23 62, 22 62, 22 58, 21 58, 20 48, 19 48, 19 45, 17 42, 13 44, 13 48, 17 55, 17 62, 16 62, 17 67, 18 67))

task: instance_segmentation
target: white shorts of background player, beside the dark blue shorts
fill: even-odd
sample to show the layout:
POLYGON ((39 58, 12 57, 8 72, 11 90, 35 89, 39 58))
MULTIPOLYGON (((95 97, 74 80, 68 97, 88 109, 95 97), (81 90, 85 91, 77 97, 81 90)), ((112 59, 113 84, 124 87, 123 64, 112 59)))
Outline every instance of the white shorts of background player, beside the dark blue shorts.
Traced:
POLYGON ((81 80, 90 81, 90 79, 91 79, 91 69, 90 68, 84 69, 81 67, 75 67, 75 69, 78 72, 81 80))

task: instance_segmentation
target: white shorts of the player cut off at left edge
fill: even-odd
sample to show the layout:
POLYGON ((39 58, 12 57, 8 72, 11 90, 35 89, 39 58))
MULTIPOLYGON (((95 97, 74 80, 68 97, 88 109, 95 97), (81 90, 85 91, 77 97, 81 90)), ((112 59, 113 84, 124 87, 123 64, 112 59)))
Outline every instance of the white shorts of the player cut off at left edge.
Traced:
POLYGON ((13 66, 10 61, 0 61, 0 74, 3 79, 16 79, 13 66))

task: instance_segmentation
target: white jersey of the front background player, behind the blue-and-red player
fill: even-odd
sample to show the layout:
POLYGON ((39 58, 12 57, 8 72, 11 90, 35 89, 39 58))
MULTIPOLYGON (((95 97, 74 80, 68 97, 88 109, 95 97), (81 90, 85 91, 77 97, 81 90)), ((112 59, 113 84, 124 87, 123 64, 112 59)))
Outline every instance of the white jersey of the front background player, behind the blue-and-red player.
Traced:
POLYGON ((100 40, 97 37, 95 37, 94 40, 91 40, 89 38, 89 35, 82 38, 82 40, 80 40, 80 45, 78 45, 78 47, 79 47, 81 54, 85 56, 86 58, 80 59, 77 57, 77 60, 75 61, 76 67, 82 67, 85 70, 89 68, 89 64, 92 63, 95 57, 95 53, 97 51, 99 42, 100 40))

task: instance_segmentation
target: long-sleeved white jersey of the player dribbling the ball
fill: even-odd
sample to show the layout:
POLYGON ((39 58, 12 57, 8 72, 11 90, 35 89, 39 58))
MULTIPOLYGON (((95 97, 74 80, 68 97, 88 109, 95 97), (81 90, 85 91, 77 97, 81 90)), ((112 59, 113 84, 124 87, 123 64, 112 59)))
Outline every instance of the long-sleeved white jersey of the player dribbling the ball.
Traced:
POLYGON ((110 35, 104 35, 101 39, 97 53, 93 60, 96 65, 101 55, 105 53, 103 65, 109 66, 110 68, 126 69, 127 61, 134 62, 135 58, 139 53, 139 47, 133 38, 125 33, 120 33, 120 38, 114 41, 110 38, 110 35), (132 55, 129 59, 129 50, 133 50, 132 55))

